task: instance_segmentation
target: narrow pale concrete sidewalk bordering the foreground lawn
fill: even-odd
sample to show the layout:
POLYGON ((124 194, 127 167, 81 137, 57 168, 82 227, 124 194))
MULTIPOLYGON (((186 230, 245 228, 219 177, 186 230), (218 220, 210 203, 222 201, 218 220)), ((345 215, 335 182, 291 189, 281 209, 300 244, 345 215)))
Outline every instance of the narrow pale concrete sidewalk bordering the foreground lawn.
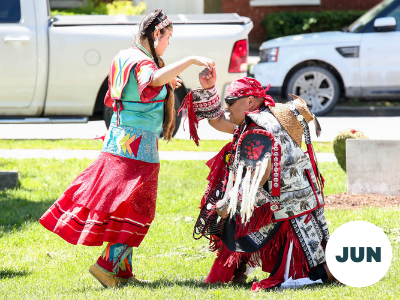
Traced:
MULTIPOLYGON (((218 152, 196 152, 196 151, 160 151, 160 160, 209 160, 218 152)), ((3 158, 89 158, 95 159, 99 156, 100 150, 36 150, 36 149, 15 149, 0 150, 0 157, 3 158)), ((333 153, 317 153, 318 162, 336 162, 333 153)))

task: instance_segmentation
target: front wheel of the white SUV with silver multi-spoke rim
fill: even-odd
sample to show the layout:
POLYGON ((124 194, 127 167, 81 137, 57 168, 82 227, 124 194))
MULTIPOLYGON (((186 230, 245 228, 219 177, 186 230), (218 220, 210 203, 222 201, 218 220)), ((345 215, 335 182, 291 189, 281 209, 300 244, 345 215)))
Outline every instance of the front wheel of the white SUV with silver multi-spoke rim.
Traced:
POLYGON ((330 71, 310 66, 292 75, 287 86, 287 94, 299 96, 307 103, 313 114, 323 116, 336 106, 340 88, 336 77, 330 71))

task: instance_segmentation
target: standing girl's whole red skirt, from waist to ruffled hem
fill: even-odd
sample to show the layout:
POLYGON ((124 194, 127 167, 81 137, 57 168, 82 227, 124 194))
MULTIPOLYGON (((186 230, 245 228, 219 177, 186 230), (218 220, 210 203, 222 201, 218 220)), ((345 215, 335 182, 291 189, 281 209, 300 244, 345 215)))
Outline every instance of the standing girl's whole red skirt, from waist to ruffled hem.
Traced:
POLYGON ((102 152, 40 223, 71 244, 138 247, 154 219, 159 166, 102 152))

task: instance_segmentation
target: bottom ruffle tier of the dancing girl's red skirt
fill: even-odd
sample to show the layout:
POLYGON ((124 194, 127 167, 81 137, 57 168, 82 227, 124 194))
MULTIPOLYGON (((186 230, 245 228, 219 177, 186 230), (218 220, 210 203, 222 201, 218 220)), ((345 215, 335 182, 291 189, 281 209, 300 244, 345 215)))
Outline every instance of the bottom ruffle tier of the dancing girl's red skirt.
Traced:
POLYGON ((111 242, 138 247, 152 219, 139 215, 127 202, 112 213, 105 213, 77 205, 62 195, 39 222, 73 245, 101 246, 111 242))

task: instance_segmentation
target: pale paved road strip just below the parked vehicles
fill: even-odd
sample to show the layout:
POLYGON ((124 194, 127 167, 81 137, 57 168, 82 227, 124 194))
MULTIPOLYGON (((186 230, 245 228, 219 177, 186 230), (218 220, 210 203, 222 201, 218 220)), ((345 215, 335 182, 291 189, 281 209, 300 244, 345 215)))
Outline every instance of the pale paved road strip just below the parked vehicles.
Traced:
MULTIPOLYGON (((319 117, 318 120, 322 134, 319 138, 315 136, 311 122, 312 141, 333 141, 340 130, 348 128, 360 130, 370 139, 400 140, 400 117, 319 117)), ((0 139, 93 139, 106 132, 104 121, 83 124, 0 124, 0 139)), ((206 120, 199 122, 198 133, 201 140, 232 139, 231 134, 215 130, 206 120)), ((189 139, 187 122, 181 124, 175 138, 189 139)))

